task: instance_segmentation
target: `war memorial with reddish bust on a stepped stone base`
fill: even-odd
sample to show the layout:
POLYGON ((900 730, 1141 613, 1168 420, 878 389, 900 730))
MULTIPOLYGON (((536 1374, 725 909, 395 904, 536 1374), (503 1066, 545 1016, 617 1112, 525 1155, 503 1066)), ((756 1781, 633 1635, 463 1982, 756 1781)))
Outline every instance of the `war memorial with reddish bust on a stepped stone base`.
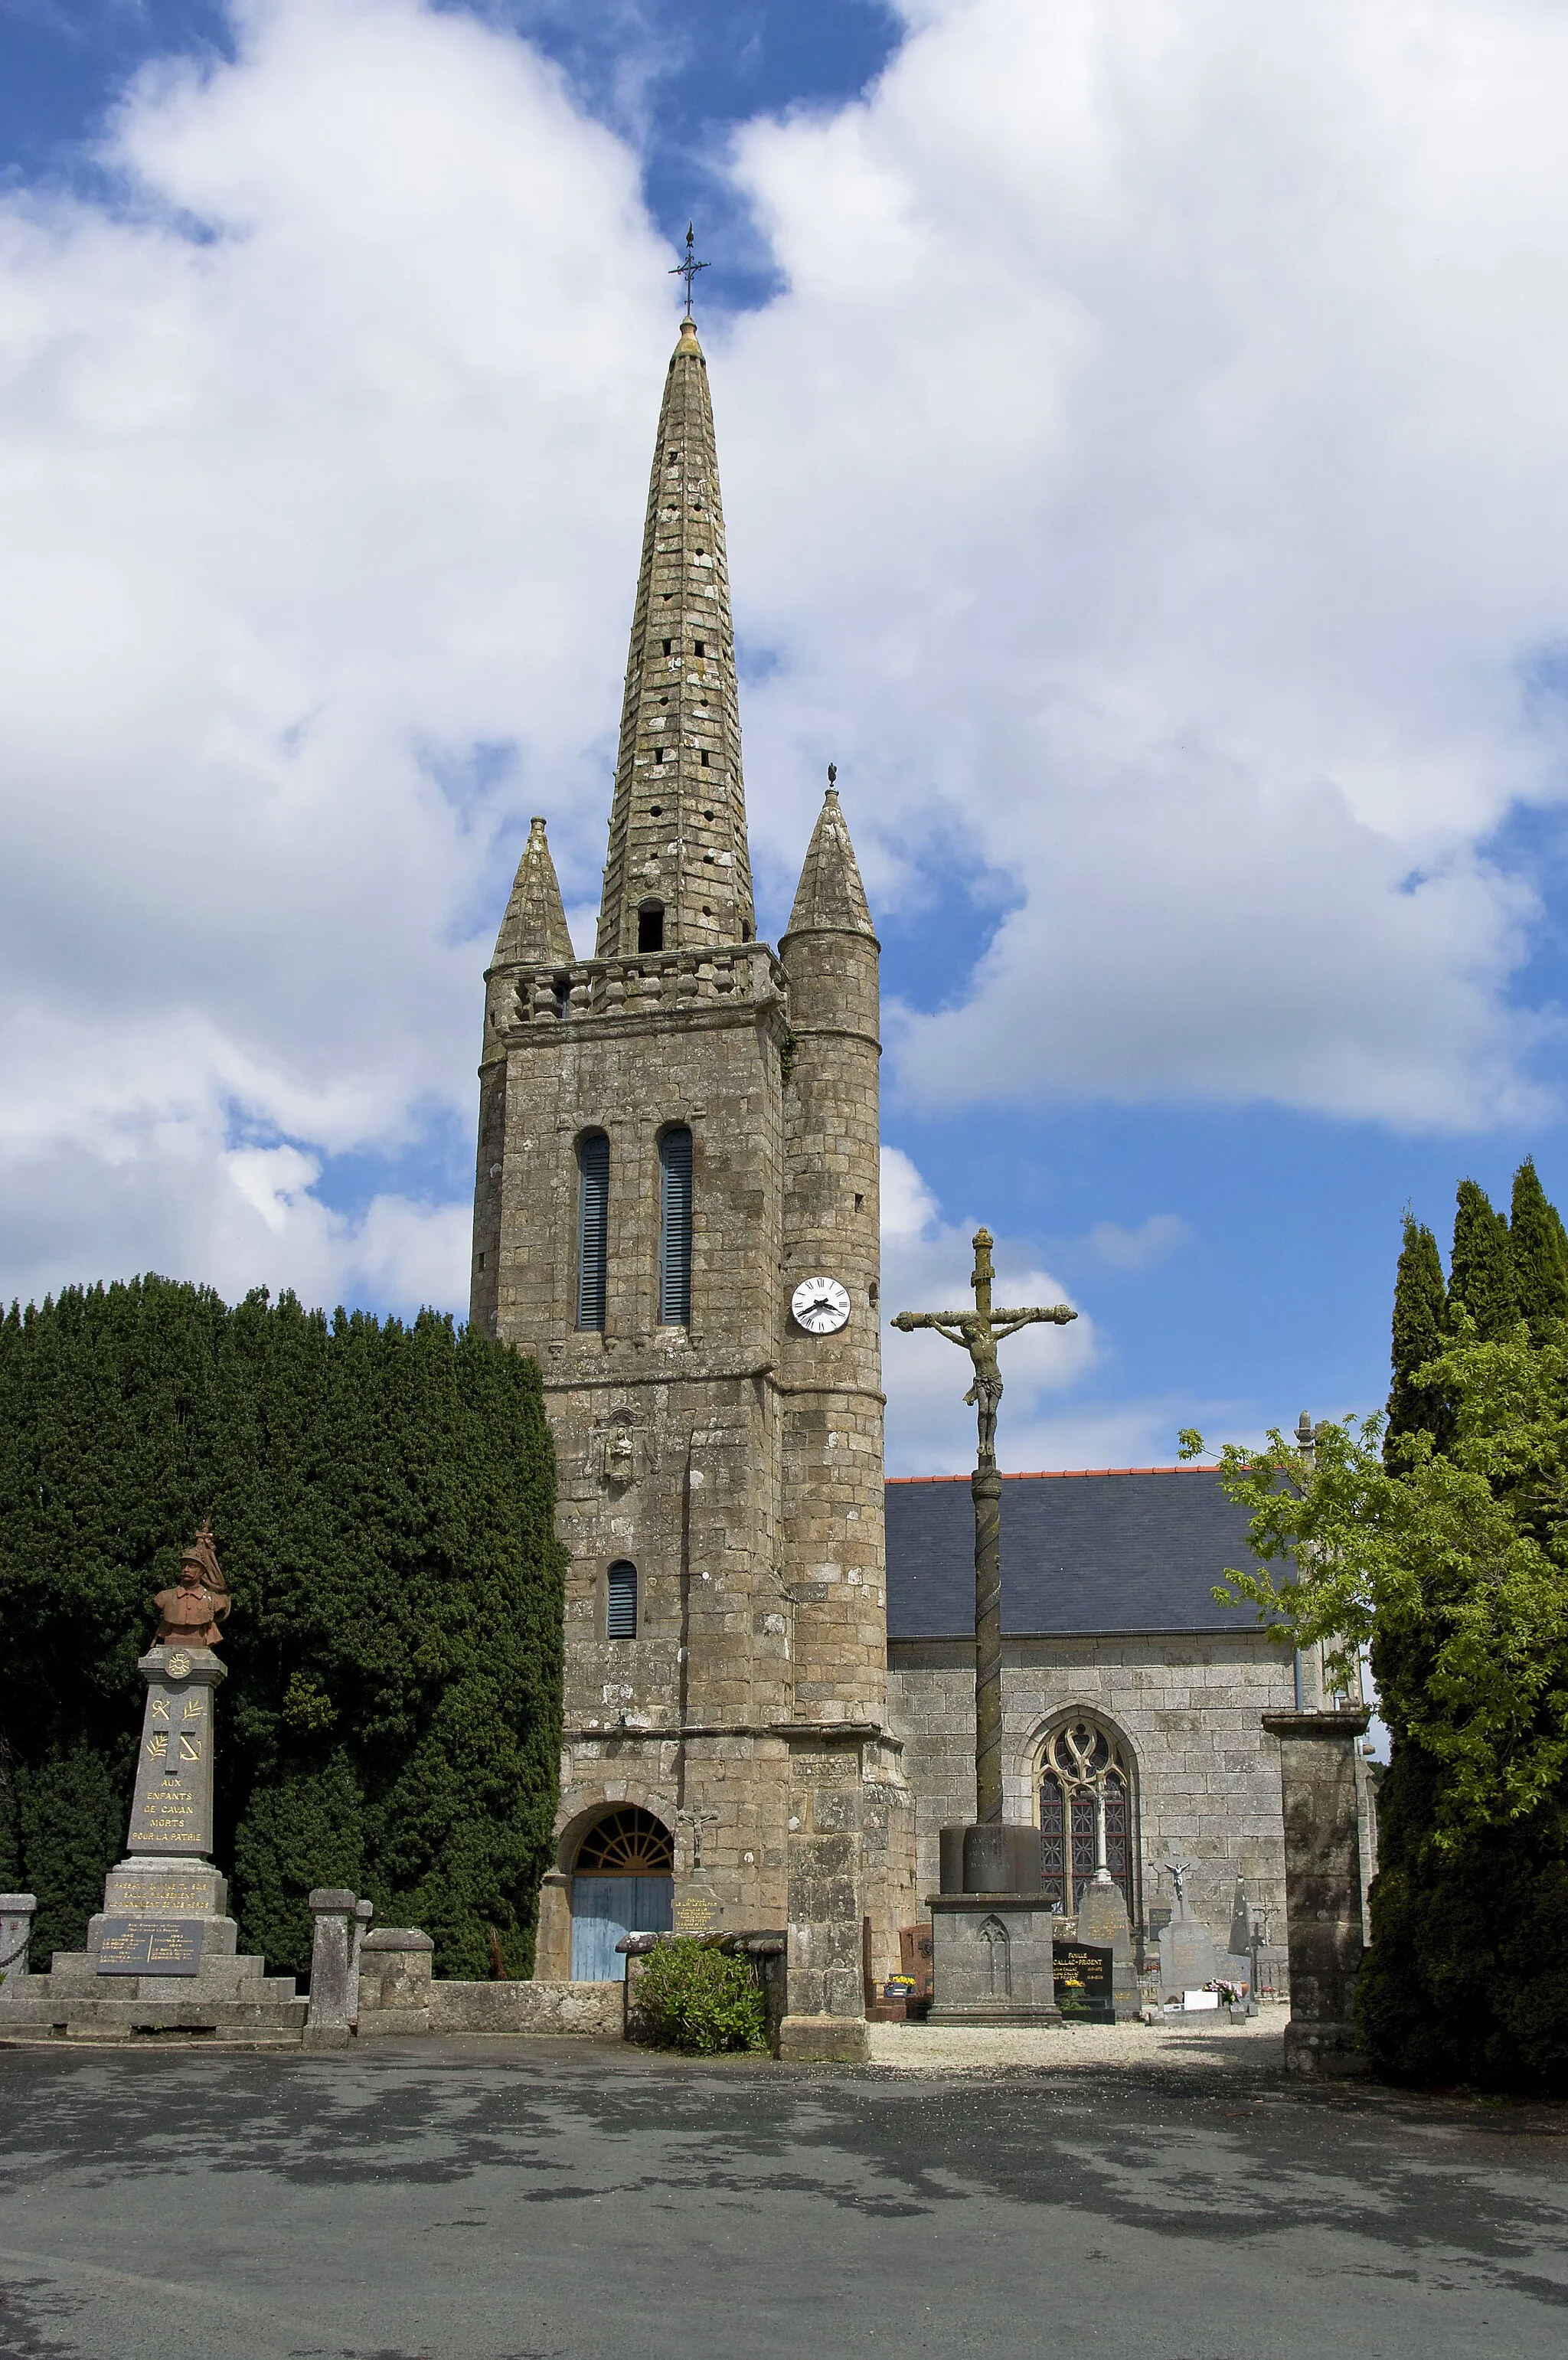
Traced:
POLYGON ((146 1680, 127 1855, 104 1881, 85 1952, 54 1952, 45 1975, 7 1975, 0 2034, 130 2039, 139 2032, 217 2034, 248 2046, 295 2044, 307 2001, 292 1975, 238 1952, 229 1883, 212 1867, 215 1654, 229 1584, 212 1532, 158 1591, 158 1635, 137 1669, 146 1680))

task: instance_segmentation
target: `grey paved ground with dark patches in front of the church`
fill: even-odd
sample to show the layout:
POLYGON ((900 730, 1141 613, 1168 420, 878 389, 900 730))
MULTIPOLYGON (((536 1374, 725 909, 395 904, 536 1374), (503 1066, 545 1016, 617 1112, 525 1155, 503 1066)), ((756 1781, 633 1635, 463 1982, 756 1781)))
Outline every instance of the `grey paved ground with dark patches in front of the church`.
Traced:
POLYGON ((1271 2027, 1061 2039, 1068 2072, 5 2048, 0 2355, 1568 2351, 1568 2110, 1290 2086, 1271 2027))

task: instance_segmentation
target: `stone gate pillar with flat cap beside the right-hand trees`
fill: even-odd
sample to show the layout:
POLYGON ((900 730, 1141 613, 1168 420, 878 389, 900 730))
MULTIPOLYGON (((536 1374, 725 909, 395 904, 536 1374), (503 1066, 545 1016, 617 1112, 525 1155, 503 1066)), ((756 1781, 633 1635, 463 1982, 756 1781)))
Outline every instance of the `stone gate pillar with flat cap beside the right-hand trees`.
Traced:
POLYGON ((1356 1746, 1372 1716, 1264 1713, 1280 1742, 1290 2023, 1285 2072, 1363 2074, 1353 1994, 1361 1973, 1361 1796, 1356 1746))

